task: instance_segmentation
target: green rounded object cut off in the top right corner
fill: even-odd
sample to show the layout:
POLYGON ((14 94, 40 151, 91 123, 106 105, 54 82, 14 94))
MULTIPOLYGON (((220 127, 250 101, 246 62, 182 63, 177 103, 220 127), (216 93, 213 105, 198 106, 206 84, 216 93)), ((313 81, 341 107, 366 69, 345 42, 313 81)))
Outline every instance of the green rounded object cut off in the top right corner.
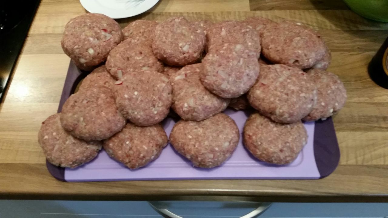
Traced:
POLYGON ((344 2, 363 17, 388 22, 388 0, 344 0, 344 2))

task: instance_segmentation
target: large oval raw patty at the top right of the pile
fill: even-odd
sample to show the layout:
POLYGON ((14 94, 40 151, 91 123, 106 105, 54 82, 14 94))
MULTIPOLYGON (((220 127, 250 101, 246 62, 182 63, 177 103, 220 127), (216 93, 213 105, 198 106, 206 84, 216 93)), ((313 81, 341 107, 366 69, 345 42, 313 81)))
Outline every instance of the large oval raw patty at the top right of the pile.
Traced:
POLYGON ((292 22, 270 24, 262 35, 262 53, 272 63, 306 69, 326 52, 316 33, 292 22))

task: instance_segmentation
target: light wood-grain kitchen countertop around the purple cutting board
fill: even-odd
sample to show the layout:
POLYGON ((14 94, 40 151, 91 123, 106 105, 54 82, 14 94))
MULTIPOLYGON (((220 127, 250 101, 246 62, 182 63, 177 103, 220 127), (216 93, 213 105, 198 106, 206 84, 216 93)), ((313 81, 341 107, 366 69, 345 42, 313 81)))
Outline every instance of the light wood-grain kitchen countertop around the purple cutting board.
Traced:
POLYGON ((368 21, 340 0, 161 0, 132 19, 297 20, 319 29, 333 54, 330 70, 348 91, 334 118, 340 166, 321 180, 185 180, 66 183, 53 178, 37 142, 41 122, 57 111, 69 58, 60 40, 78 0, 42 0, 0 104, 0 198, 82 200, 255 200, 388 202, 388 90, 367 64, 388 36, 388 23, 368 21))

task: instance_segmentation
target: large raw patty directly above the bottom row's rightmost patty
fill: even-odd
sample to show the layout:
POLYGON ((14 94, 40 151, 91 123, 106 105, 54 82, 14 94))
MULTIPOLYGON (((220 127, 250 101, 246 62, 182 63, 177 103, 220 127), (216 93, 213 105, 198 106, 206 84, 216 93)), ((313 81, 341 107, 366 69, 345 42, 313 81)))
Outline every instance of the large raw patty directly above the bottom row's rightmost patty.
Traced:
POLYGON ((306 73, 283 64, 262 65, 258 80, 248 92, 252 107, 280 123, 294 123, 309 114, 317 90, 306 73))

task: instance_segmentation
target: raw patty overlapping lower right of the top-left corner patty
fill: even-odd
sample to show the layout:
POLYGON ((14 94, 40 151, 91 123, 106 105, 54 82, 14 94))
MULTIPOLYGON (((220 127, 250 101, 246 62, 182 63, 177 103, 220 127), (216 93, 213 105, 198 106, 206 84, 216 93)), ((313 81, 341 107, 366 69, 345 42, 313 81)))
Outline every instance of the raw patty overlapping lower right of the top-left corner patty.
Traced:
POLYGON ((106 60, 106 68, 117 80, 132 71, 153 69, 163 72, 163 64, 142 38, 128 38, 113 48, 106 60))

